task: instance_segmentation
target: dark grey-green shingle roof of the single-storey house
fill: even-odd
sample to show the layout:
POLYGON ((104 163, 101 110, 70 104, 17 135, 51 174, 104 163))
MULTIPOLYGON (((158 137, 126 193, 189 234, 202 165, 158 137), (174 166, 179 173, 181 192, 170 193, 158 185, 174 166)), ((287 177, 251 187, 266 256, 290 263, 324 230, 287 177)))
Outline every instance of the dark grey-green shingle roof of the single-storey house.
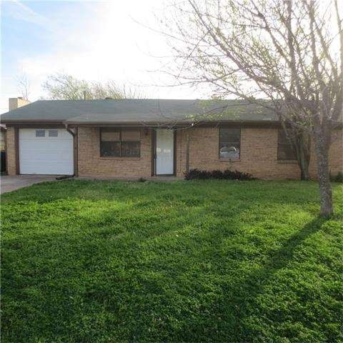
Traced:
POLYGON ((39 100, 2 114, 1 122, 66 124, 182 121, 277 121, 274 112, 242 100, 39 100))

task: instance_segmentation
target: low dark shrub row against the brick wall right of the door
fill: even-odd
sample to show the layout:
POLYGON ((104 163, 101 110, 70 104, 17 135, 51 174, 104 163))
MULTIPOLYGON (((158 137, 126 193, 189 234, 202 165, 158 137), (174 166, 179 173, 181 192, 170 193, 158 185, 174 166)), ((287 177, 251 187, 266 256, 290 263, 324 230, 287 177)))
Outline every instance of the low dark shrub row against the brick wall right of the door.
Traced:
POLYGON ((212 170, 211 172, 206 170, 191 169, 189 172, 184 173, 184 178, 187 180, 193 179, 231 179, 231 180, 254 180, 252 174, 238 172, 237 170, 225 169, 212 170))

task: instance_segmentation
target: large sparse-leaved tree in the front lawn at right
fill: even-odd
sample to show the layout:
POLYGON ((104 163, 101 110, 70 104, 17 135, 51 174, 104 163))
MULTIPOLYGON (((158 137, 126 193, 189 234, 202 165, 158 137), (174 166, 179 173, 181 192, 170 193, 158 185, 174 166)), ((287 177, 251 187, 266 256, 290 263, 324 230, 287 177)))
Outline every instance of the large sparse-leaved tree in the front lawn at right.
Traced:
POLYGON ((188 0, 174 10, 164 23, 179 62, 171 74, 180 83, 211 85, 214 96, 276 111, 304 178, 313 139, 320 214, 332 214, 329 146, 343 101, 337 0, 188 0))

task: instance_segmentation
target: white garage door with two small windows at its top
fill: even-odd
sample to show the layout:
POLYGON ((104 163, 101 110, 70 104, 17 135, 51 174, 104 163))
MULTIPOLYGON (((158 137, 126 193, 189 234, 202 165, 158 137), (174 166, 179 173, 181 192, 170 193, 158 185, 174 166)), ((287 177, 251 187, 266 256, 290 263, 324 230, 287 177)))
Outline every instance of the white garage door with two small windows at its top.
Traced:
POLYGON ((20 174, 74 174, 73 136, 65 129, 19 129, 20 174))

